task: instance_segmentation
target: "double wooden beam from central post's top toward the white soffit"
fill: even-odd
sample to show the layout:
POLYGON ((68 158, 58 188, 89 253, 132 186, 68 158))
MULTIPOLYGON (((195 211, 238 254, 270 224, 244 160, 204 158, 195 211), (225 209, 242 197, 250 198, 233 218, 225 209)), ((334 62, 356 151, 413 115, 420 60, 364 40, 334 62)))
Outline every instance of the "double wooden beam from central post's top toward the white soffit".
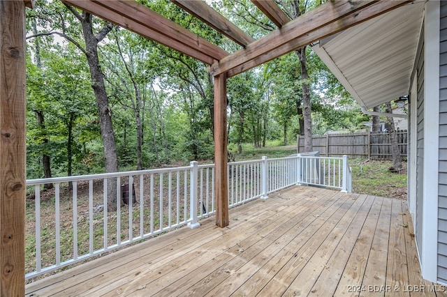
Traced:
POLYGON ((281 29, 256 40, 210 68, 212 75, 240 74, 267 61, 297 50, 411 1, 330 1, 300 15, 281 29))

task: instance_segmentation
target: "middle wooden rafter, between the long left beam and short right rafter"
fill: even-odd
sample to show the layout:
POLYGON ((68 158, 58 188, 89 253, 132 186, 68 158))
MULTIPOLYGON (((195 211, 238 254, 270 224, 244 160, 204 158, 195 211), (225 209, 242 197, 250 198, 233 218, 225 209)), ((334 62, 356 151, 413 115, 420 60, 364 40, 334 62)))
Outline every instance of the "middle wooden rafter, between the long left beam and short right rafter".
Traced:
POLYGON ((203 1, 171 1, 243 47, 255 40, 203 1))

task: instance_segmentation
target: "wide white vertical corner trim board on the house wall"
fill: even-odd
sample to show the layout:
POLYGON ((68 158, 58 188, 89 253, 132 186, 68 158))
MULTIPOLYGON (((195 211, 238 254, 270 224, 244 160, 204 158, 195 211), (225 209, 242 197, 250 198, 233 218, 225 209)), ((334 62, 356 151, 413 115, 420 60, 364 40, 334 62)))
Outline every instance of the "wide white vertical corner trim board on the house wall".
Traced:
POLYGON ((425 3, 424 181, 421 271, 437 282, 439 188, 439 1, 425 3))

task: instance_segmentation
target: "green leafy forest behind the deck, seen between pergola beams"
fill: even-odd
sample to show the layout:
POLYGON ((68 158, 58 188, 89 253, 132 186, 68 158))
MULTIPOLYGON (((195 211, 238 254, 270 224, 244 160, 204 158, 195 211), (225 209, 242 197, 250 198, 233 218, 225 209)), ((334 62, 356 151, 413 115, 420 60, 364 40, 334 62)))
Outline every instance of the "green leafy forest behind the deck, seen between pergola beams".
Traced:
MULTIPOLYGON (((241 48, 167 0, 141 2, 228 52, 241 48)), ((320 4, 279 1, 291 18, 320 4)), ((211 5, 256 39, 276 28, 248 0, 211 5)), ((212 160, 212 87, 200 61, 39 0, 27 10, 27 178, 212 160)), ((228 79, 227 112, 230 159, 243 144, 293 144, 370 119, 311 47, 228 79)))

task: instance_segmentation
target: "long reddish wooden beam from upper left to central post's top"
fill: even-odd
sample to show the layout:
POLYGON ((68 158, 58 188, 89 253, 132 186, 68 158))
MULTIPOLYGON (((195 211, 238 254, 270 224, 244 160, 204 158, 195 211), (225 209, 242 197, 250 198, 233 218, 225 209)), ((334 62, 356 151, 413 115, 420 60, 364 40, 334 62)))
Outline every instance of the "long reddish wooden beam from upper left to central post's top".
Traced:
POLYGON ((135 1, 63 1, 204 63, 212 64, 228 56, 217 45, 135 1))

